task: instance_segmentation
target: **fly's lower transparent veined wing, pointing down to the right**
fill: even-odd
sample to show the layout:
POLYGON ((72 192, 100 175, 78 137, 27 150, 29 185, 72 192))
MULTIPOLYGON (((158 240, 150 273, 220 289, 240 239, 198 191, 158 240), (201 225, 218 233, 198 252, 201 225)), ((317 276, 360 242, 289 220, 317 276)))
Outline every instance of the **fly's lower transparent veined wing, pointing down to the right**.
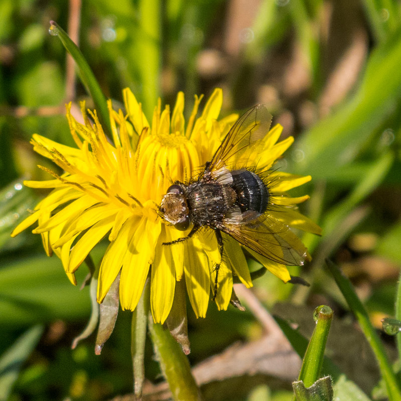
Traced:
POLYGON ((245 212, 241 219, 224 219, 219 228, 258 254, 283 265, 302 266, 310 258, 290 228, 266 214, 245 212))

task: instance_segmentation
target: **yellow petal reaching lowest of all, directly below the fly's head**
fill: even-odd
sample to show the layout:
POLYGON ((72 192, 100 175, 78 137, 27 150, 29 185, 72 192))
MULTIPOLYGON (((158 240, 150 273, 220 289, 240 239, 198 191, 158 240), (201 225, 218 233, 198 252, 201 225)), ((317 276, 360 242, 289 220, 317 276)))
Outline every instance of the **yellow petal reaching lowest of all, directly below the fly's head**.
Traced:
POLYGON ((156 323, 164 323, 167 319, 175 288, 175 268, 171 246, 162 246, 163 242, 167 242, 165 225, 161 229, 157 244, 158 252, 155 254, 151 268, 150 307, 156 323))

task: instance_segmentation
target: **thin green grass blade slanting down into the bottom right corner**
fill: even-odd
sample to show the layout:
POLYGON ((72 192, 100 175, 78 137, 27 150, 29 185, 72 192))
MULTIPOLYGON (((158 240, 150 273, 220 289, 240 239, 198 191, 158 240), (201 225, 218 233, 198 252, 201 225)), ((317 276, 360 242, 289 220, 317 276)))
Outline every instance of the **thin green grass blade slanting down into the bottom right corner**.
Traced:
POLYGON ((327 260, 326 263, 342 295, 347 301, 349 308, 358 320, 359 325, 374 352, 374 355, 376 356, 380 367, 380 372, 387 388, 388 399, 390 401, 401 401, 401 388, 399 387, 394 372, 391 369, 391 365, 385 355, 383 345, 381 344, 375 329, 370 323, 366 310, 363 308, 362 303, 357 297, 351 282, 341 273, 341 271, 333 262, 327 260))

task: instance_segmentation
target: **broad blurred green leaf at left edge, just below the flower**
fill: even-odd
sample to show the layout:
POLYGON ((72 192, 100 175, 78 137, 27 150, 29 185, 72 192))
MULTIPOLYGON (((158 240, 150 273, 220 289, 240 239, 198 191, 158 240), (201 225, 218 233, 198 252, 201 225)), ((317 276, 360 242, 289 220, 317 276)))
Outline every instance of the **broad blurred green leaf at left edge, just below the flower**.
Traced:
MULTIPOLYGON (((55 318, 77 320, 89 314, 87 288, 80 291, 70 283, 58 258, 44 255, 8 263, 3 260, 2 266, 2 325, 23 326, 55 318)), ((80 269, 79 275, 83 274, 80 269)))

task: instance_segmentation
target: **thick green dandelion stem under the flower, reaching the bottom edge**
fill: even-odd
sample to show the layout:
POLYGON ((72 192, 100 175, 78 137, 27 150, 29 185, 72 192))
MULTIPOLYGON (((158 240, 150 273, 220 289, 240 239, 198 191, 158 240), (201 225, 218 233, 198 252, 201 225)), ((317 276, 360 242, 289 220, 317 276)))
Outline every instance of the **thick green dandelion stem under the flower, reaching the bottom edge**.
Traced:
POLYGON ((149 332, 174 401, 201 400, 202 396, 192 376, 187 357, 170 332, 161 324, 153 322, 151 314, 149 314, 149 332))

